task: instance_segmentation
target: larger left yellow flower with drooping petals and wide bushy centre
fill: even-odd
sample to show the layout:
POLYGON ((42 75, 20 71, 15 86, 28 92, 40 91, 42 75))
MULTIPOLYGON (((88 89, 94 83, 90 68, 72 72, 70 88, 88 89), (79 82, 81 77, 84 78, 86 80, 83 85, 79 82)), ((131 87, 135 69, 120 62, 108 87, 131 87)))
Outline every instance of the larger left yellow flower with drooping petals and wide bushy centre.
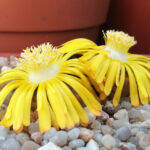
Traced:
POLYGON ((24 50, 18 59, 19 66, 0 75, 0 106, 13 91, 7 112, 0 124, 13 126, 16 132, 30 124, 33 95, 36 95, 38 121, 41 132, 55 128, 73 127, 76 123, 86 126, 89 118, 72 91, 95 115, 100 115, 101 105, 82 73, 83 64, 69 59, 50 44, 24 50))

